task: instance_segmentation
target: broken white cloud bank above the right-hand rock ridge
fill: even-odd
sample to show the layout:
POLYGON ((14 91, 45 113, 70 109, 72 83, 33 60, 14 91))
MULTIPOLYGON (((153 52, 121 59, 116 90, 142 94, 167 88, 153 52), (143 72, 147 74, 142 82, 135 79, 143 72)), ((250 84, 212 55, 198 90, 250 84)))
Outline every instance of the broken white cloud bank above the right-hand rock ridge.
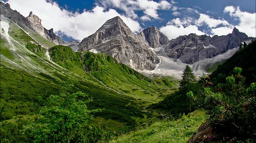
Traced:
MULTIPOLYGON (((238 20, 239 24, 237 25, 232 25, 232 23, 224 19, 212 18, 192 8, 179 8, 179 10, 185 10, 191 16, 172 19, 166 23, 166 26, 160 28, 161 32, 169 39, 176 38, 179 35, 188 35, 189 33, 196 33, 197 35, 205 33, 208 35, 227 35, 232 33, 234 27, 240 32, 246 33, 249 37, 256 37, 256 13, 242 12, 239 7, 227 6, 223 11, 224 13, 228 13, 230 17, 238 20), (195 18, 197 15, 198 18, 195 18), (198 27, 204 30, 200 31, 198 27), (208 28, 208 32, 206 32, 206 28, 204 27, 208 28)), ((173 13, 173 15, 179 15, 179 13, 173 13)))

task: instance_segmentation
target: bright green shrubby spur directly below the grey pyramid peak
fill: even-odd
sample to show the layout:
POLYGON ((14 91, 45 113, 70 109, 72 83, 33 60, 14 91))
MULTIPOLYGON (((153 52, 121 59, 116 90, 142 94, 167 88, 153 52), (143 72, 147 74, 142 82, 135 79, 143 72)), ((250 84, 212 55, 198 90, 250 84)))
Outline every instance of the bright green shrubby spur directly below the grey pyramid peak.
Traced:
POLYGON ((73 52, 69 47, 50 49, 51 58, 62 67, 93 75, 103 85, 145 104, 161 101, 177 86, 170 78, 151 80, 103 53, 73 52), (82 71, 81 71, 82 70, 82 71))

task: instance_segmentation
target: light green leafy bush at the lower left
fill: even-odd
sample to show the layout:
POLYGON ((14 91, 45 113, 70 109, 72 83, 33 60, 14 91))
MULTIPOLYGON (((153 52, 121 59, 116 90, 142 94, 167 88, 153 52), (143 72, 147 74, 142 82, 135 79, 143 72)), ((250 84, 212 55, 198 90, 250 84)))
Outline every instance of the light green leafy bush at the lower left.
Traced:
POLYGON ((60 95, 49 96, 36 121, 24 127, 36 142, 85 141, 83 128, 93 112, 86 104, 92 100, 86 100, 87 95, 82 92, 68 93, 71 86, 73 84, 68 83, 60 95))

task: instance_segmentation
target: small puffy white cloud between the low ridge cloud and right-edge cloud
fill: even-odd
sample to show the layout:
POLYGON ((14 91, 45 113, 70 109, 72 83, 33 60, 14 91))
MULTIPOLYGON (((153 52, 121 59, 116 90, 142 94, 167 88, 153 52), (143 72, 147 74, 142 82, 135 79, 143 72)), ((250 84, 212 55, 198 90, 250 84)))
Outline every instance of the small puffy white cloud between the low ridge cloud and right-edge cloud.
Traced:
POLYGON ((229 25, 229 23, 226 20, 220 20, 220 19, 214 19, 210 18, 209 15, 200 13, 200 17, 195 22, 198 26, 202 26, 203 24, 207 24, 210 28, 215 28, 218 25, 229 25))

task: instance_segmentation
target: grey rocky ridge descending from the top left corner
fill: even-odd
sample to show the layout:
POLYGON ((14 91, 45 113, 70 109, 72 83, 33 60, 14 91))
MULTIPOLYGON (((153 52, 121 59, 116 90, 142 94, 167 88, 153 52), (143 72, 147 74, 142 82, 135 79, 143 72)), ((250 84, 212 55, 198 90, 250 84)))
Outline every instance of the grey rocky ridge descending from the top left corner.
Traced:
POLYGON ((33 15, 32 12, 29 13, 28 17, 23 17, 16 10, 12 10, 8 3, 1 3, 1 15, 4 15, 8 19, 12 20, 12 22, 19 23, 20 26, 25 26, 25 28, 29 28, 34 32, 38 33, 41 37, 44 37, 46 40, 53 42, 56 45, 67 45, 67 43, 61 39, 59 36, 55 35, 53 32, 53 28, 50 30, 46 30, 41 24, 41 19, 36 15, 33 15))

